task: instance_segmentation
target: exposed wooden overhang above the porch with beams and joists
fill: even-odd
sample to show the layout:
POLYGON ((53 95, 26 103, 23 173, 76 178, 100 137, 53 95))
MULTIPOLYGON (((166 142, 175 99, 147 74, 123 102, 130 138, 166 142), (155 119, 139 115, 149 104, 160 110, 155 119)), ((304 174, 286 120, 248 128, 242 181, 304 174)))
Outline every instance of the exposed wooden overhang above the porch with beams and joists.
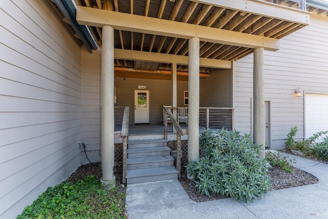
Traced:
POLYGON ((177 63, 181 72, 188 71, 191 37, 200 39, 200 72, 208 73, 231 68, 258 47, 278 50, 279 39, 309 25, 311 14, 285 0, 61 0, 71 1, 77 26, 87 25, 95 42, 101 27, 114 28, 115 66, 170 70, 177 63), (108 4, 110 11, 101 9, 108 4))

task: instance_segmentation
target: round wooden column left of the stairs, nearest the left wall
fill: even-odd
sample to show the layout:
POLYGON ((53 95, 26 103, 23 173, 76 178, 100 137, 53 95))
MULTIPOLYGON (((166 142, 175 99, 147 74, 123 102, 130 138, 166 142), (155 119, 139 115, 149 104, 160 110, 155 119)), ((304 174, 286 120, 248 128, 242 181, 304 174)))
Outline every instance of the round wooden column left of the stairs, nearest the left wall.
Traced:
MULTIPOLYGON (((101 167, 103 182, 114 179, 114 29, 103 27, 101 48, 101 167)), ((114 182, 115 186, 115 182, 114 182)))

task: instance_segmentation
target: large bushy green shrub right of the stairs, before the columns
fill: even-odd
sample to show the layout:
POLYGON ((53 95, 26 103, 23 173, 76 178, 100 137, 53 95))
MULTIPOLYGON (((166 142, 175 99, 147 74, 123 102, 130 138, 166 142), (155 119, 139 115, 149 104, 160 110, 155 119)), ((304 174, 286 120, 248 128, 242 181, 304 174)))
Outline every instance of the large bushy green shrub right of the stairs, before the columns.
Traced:
POLYGON ((250 134, 238 131, 210 130, 200 134, 200 147, 205 154, 189 161, 187 171, 196 181, 201 194, 220 194, 249 202, 262 197, 271 188, 260 146, 250 134))

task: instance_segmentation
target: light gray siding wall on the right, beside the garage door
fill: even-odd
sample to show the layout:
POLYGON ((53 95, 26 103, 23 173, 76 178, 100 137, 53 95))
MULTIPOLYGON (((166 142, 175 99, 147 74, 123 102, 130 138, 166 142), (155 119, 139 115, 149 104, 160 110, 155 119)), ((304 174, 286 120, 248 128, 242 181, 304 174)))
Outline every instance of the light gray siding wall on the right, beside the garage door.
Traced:
MULTIPOLYGON (((280 50, 264 52, 265 101, 271 102, 271 147, 283 148, 284 138, 293 126, 296 140, 304 137, 303 97, 295 89, 311 93, 328 93, 328 22, 311 15, 311 24, 280 39, 280 50)), ((253 54, 235 63, 235 127, 251 132, 253 97, 253 54)))

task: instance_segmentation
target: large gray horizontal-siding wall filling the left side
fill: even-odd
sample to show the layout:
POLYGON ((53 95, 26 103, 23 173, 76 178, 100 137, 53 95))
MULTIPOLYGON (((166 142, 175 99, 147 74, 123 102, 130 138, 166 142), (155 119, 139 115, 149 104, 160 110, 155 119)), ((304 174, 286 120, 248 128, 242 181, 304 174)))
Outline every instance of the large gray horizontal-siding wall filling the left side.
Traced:
POLYGON ((79 165, 81 50, 48 1, 1 1, 0 217, 79 165))

